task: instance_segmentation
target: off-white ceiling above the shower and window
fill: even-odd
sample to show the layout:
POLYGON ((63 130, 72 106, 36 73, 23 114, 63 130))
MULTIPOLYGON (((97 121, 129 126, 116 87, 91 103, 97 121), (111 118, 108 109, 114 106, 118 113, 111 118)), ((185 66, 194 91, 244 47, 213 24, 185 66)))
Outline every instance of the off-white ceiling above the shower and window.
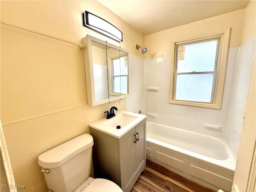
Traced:
POLYGON ((246 8, 248 0, 98 0, 147 35, 246 8))

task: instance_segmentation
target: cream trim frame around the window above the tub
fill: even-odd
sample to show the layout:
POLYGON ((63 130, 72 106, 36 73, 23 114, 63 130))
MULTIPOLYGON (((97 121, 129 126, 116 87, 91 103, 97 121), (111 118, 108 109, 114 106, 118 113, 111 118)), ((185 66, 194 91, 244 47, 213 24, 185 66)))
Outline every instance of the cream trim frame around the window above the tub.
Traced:
POLYGON ((170 76, 170 93, 169 103, 181 104, 196 107, 214 108, 220 109, 222 104, 222 94, 224 89, 226 62, 228 56, 228 43, 229 43, 230 28, 225 31, 215 32, 212 34, 200 35, 196 37, 190 37, 186 39, 178 39, 171 42, 171 76, 170 76), (201 40, 207 40, 211 38, 220 38, 220 47, 218 53, 218 65, 216 74, 216 86, 214 90, 213 103, 194 102, 194 101, 182 101, 175 100, 175 70, 176 70, 176 46, 179 44, 186 44, 189 42, 196 42, 201 40))

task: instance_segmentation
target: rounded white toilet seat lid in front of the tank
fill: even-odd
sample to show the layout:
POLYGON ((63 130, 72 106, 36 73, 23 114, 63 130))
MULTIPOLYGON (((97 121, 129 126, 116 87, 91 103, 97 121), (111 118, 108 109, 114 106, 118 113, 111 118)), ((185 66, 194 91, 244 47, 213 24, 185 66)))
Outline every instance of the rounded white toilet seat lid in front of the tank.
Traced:
POLYGON ((123 192, 114 182, 106 179, 94 179, 83 192, 123 192))

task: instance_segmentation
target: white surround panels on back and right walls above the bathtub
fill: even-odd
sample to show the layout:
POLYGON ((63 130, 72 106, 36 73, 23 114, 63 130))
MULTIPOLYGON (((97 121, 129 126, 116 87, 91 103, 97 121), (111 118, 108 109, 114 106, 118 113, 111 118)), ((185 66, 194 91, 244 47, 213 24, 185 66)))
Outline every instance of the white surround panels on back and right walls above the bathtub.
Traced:
POLYGON ((252 63, 253 47, 255 38, 242 47, 229 48, 222 106, 219 110, 168 103, 170 56, 145 59, 144 114, 147 115, 147 120, 223 138, 228 141, 236 158, 252 70, 252 65, 242 65, 252 63), (235 137, 234 134, 238 136, 235 137))

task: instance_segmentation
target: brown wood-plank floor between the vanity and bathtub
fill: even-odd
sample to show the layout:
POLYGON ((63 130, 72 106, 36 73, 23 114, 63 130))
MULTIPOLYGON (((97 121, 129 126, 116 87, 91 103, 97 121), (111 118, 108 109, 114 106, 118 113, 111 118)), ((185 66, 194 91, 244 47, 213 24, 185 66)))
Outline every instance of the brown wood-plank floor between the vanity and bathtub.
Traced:
POLYGON ((138 178, 131 192, 214 192, 214 190, 147 160, 146 169, 138 178))

